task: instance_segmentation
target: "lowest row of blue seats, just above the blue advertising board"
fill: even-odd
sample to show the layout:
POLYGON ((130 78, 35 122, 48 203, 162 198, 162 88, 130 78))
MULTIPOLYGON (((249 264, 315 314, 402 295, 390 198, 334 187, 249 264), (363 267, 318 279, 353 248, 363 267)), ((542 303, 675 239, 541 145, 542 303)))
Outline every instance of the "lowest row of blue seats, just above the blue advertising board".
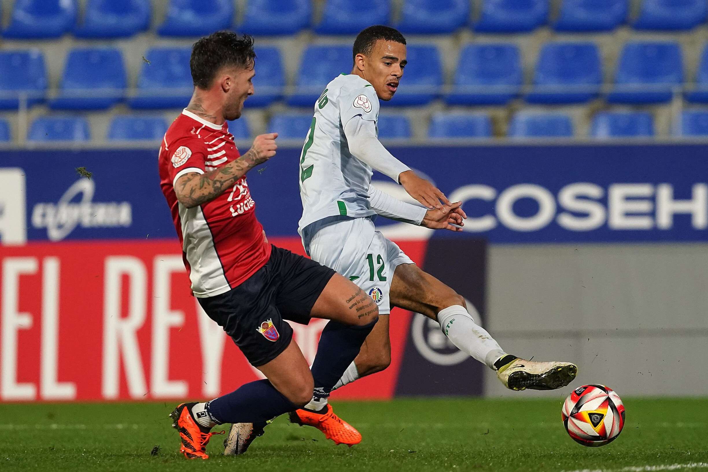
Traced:
MULTIPOLYGON (((274 115, 269 132, 278 132, 281 139, 304 139, 312 115, 274 115)), ((108 129, 108 141, 158 141, 167 130, 164 117, 119 115, 108 129)), ((405 115, 379 117, 379 138, 410 139, 411 122, 405 115)), ((236 139, 249 139, 251 132, 245 117, 229 122, 229 131, 236 139)), ((683 137, 708 137, 708 111, 685 111, 675 134, 683 137)), ((573 122, 562 113, 516 113, 508 128, 512 138, 573 137, 573 122)), ((653 137, 651 114, 646 112, 600 112, 592 120, 590 137, 596 139, 653 137)), ((470 139, 493 137, 492 122, 484 113, 435 113, 428 127, 430 139, 470 139)), ((8 123, 0 120, 0 142, 9 142, 8 123)), ((86 142, 91 139, 89 121, 84 117, 38 117, 28 132, 30 142, 86 142)))

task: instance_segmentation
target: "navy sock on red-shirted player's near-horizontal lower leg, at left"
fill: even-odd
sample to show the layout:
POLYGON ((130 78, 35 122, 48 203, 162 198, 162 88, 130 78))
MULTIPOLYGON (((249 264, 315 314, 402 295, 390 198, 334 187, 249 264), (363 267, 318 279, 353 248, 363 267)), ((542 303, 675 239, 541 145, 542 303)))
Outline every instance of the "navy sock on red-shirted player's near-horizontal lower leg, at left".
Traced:
POLYGON ((207 413, 219 424, 264 422, 297 410, 268 380, 256 380, 207 403, 207 413))

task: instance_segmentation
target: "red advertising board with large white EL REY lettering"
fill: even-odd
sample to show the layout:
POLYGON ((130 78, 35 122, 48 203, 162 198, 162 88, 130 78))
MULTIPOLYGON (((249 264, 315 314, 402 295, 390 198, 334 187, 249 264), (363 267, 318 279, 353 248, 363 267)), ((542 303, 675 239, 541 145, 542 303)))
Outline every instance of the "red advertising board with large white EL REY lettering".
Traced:
MULTIPOLYGON (((426 241, 399 245, 423 264, 426 241)), ((175 240, 0 246, 0 272, 0 401, 214 398, 261 378, 191 295, 175 240)), ((392 312, 391 367, 333 396, 394 394, 410 316, 392 312)), ((325 324, 293 323, 311 362, 325 324)))

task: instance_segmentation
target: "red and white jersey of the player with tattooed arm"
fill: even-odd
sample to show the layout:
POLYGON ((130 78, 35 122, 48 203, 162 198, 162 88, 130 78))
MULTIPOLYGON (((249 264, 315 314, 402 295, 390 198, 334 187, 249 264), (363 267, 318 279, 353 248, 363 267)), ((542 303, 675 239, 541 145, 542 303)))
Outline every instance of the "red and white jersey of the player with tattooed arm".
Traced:
POLYGON ((270 244, 256 219, 246 178, 215 200, 185 208, 174 183, 185 173, 205 173, 239 157, 229 125, 215 125, 184 110, 172 122, 160 146, 162 192, 182 243, 195 297, 228 292, 251 277, 270 258, 270 244))

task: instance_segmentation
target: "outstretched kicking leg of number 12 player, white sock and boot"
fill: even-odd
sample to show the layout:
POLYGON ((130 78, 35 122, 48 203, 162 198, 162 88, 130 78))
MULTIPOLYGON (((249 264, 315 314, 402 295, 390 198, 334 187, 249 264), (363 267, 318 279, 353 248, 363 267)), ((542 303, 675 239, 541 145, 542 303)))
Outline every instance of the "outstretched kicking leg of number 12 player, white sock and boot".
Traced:
POLYGON ((498 379, 511 390, 561 388, 578 372, 578 367, 570 362, 537 362, 508 355, 474 322, 467 312, 464 297, 416 265, 396 267, 390 297, 393 306, 423 313, 438 321, 442 332, 459 350, 494 369, 498 379))

